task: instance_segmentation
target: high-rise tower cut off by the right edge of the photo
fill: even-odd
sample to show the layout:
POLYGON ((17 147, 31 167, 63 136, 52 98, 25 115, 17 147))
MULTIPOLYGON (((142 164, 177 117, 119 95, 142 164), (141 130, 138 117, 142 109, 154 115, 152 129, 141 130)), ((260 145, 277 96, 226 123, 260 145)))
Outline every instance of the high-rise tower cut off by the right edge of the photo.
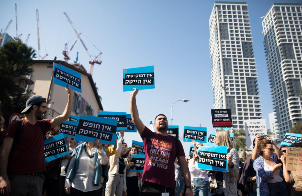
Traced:
POLYGON ((302 122, 302 3, 273 3, 263 21, 266 66, 280 142, 302 122))

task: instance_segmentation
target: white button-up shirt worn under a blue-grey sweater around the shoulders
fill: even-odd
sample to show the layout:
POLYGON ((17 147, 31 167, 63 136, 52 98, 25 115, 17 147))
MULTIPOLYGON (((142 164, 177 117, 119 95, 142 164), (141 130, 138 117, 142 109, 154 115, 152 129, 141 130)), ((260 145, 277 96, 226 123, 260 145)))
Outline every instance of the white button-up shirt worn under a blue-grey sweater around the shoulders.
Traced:
MULTIPOLYGON (((86 147, 87 146, 85 146, 84 148, 86 147)), ((94 154, 94 148, 89 150, 89 148, 87 147, 87 152, 89 155, 94 154)), ((104 152, 103 149, 101 151, 98 151, 98 159, 100 160, 100 163, 102 165, 106 165, 108 163, 108 157, 106 156, 106 153, 104 152)), ((75 178, 71 183, 70 180, 66 178, 65 187, 70 187, 71 185, 72 188, 78 189, 83 192, 94 191, 101 188, 101 183, 99 186, 92 185, 94 180, 94 169, 95 169, 94 157, 89 158, 85 152, 85 149, 83 149, 79 160, 80 160, 79 167, 76 172, 75 178)), ((68 176, 74 161, 75 161, 75 156, 71 157, 66 176, 68 176)))

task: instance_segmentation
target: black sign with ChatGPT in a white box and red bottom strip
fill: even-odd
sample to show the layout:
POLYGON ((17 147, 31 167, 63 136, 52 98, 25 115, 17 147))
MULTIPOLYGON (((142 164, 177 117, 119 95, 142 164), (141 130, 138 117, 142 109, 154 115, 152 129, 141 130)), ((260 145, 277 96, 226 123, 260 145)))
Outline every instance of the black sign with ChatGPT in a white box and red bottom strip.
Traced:
POLYGON ((232 127, 231 109, 212 109, 213 127, 232 127))

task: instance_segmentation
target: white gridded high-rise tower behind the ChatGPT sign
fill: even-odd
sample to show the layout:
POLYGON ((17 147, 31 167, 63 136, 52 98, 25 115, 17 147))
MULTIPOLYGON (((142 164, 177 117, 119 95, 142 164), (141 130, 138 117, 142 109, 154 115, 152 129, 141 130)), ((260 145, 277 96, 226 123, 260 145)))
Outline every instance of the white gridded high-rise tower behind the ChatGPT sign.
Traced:
POLYGON ((262 118, 247 4, 215 2, 209 23, 213 108, 231 109, 238 130, 262 118))

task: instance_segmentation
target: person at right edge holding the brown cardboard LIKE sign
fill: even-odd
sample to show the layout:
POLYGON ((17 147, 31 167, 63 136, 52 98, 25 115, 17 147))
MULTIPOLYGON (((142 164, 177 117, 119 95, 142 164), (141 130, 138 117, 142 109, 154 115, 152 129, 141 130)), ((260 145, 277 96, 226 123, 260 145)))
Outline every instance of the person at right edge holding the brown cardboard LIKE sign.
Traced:
MULTIPOLYGON (((290 147, 294 148, 302 148, 302 143, 292 144, 290 147)), ((289 147, 287 148, 289 149, 289 147)), ((300 152, 300 151, 299 151, 300 152)), ((286 155, 281 156, 281 161, 283 163, 283 176, 286 182, 294 182, 292 192, 290 192, 290 196, 302 196, 302 172, 301 171, 290 171, 288 173, 286 169, 286 155)))

